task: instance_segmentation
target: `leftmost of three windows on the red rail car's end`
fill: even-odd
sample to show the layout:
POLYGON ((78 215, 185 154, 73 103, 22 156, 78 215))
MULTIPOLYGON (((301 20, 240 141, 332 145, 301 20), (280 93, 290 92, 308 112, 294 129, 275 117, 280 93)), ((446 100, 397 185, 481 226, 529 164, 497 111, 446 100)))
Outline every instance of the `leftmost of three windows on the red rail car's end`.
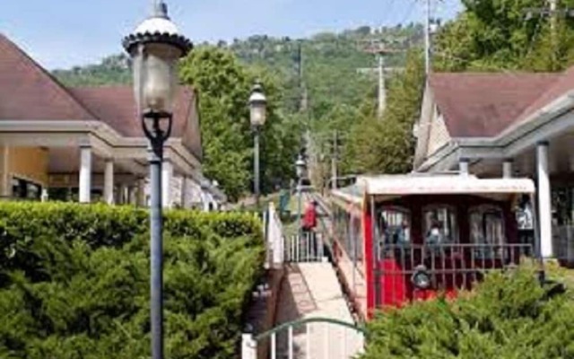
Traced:
POLYGON ((411 242, 411 214, 401 207, 383 207, 377 219, 379 244, 406 245, 411 242))

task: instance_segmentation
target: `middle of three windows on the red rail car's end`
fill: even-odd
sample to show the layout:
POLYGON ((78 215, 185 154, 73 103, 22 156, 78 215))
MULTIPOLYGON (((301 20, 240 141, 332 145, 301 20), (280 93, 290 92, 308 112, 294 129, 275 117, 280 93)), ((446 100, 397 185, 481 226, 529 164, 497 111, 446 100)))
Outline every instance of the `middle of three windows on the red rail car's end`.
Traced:
POLYGON ((457 243, 457 212, 452 206, 436 205, 423 209, 425 244, 457 243))

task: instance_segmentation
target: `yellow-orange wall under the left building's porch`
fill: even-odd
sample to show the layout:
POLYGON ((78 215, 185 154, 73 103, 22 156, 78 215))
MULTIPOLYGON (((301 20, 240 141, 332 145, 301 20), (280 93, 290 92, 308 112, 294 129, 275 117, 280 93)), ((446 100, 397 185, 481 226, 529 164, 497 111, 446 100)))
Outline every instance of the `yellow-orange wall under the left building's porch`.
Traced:
POLYGON ((48 185, 48 150, 40 147, 9 147, 7 170, 11 176, 48 185))

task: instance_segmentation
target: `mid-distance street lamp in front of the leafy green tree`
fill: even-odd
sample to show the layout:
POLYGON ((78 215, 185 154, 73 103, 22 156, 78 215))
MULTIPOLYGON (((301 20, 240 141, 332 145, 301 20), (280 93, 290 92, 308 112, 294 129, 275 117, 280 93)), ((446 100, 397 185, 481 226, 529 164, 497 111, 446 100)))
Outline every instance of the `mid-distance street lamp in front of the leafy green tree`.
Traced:
POLYGON ((263 88, 260 83, 256 83, 251 90, 251 96, 249 96, 249 113, 251 128, 254 134, 254 163, 253 163, 253 188, 255 192, 255 198, 257 207, 259 207, 259 133, 263 125, 265 125, 266 119, 266 108, 267 99, 265 98, 265 93, 263 93, 263 88))

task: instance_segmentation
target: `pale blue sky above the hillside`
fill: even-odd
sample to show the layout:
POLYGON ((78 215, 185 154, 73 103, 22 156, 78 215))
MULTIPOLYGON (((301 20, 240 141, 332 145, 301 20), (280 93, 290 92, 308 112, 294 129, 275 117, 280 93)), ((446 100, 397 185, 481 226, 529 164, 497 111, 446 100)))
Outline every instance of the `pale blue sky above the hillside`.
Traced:
MULTIPOLYGON (((99 63, 142 22, 152 0, 4 0, 0 32, 53 70, 99 63)), ((303 38, 362 25, 422 22, 424 0, 166 0, 179 31, 193 42, 256 34, 303 38)), ((431 0, 436 17, 452 18, 459 0, 431 0)), ((2 56, 2 54, 0 54, 2 56)))

